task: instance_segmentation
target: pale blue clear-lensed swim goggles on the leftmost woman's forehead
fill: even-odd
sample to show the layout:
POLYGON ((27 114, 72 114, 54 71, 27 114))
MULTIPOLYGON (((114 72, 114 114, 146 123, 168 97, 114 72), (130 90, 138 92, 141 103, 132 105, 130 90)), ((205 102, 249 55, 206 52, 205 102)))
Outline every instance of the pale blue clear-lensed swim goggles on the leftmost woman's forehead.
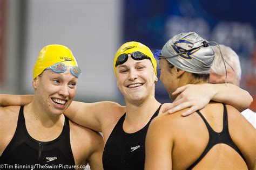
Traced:
MULTIPOLYGON (((46 69, 51 69, 52 72, 55 73, 64 73, 66 72, 66 70, 68 69, 68 66, 66 66, 63 62, 56 62, 55 64, 53 64, 50 67, 45 68, 46 69)), ((78 66, 71 66, 70 67, 70 73, 77 77, 82 73, 81 69, 78 66)))

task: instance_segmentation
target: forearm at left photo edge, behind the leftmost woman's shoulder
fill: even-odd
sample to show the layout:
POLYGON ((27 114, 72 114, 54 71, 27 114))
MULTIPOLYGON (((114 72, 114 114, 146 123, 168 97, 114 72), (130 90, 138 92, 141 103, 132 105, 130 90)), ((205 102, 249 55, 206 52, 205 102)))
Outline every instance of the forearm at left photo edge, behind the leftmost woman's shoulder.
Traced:
POLYGON ((7 107, 9 105, 26 105, 31 103, 33 95, 0 95, 0 107, 7 107))

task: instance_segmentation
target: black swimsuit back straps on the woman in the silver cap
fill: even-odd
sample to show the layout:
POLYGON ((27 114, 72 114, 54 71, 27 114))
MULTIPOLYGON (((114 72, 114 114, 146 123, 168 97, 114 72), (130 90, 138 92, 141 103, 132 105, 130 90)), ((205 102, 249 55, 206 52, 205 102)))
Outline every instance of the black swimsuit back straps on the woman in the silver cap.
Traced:
POLYGON ((204 118, 204 116, 200 113, 200 111, 197 111, 198 115, 203 119, 203 121, 206 124, 206 127, 208 129, 209 132, 209 141, 208 144, 204 150, 204 152, 200 155, 200 157, 187 169, 192 169, 193 167, 195 167, 200 160, 202 160, 205 155, 211 150, 211 148, 214 145, 217 144, 226 144, 230 147, 232 147, 235 151, 237 151, 242 159, 244 159, 244 155, 242 155, 241 151, 239 150, 239 148, 234 144, 233 140, 230 137, 230 133, 228 132, 228 120, 227 120, 227 108, 226 105, 224 105, 224 112, 223 112, 223 130, 221 132, 215 132, 211 126, 208 124, 208 122, 206 121, 206 119, 204 118))

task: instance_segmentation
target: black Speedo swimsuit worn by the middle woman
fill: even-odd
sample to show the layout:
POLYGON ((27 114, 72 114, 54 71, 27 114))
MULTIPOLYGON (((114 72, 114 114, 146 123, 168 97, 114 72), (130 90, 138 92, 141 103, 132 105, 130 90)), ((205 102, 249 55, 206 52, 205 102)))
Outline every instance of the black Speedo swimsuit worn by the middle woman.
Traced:
MULTIPOLYGON (((160 106, 161 107, 161 106, 160 106)), ((150 122, 155 118, 160 110, 160 107, 151 117, 143 129, 134 132, 126 133, 123 130, 125 120, 124 114, 111 132, 107 139, 103 152, 103 167, 107 169, 144 169, 145 162, 145 138, 150 122)))

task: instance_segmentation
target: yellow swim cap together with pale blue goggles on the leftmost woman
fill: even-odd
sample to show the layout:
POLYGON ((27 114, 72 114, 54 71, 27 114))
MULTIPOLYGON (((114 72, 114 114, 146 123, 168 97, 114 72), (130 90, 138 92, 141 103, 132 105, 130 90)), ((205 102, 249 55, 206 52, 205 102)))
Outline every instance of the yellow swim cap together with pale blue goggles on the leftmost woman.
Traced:
POLYGON ((64 73, 67 67, 70 67, 71 74, 76 77, 81 73, 76 59, 68 47, 58 44, 45 46, 39 52, 33 68, 33 79, 43 73, 45 69, 51 69, 55 73, 64 73))

